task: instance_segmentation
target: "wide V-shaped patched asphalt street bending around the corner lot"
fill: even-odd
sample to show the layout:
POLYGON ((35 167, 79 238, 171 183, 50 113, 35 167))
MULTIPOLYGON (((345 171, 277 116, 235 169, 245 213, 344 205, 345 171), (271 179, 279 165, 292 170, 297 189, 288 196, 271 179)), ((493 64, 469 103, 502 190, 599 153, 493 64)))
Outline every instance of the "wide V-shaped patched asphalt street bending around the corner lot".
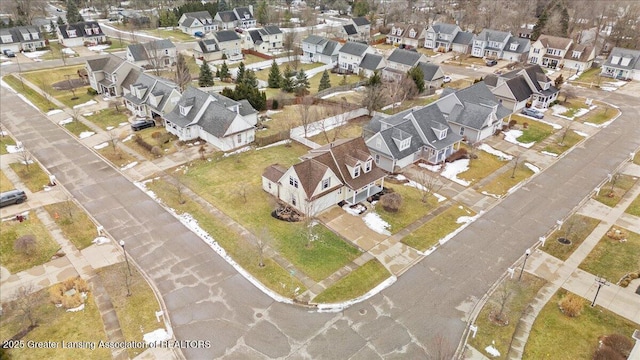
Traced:
POLYGON ((186 358, 373 359, 425 358, 440 336, 455 348, 478 299, 640 146, 638 99, 596 98, 619 105, 622 116, 393 286, 340 313, 274 302, 91 149, 4 88, 0 108, 3 125, 127 243, 159 290, 176 338, 211 341, 208 349, 182 349, 186 358))

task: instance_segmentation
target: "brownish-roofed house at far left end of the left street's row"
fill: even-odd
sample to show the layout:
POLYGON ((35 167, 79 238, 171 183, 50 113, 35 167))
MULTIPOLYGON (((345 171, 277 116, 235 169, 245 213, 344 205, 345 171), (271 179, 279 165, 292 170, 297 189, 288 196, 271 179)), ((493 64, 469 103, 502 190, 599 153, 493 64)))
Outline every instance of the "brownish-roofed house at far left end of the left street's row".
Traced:
POLYGON ((106 96, 121 96, 122 88, 129 88, 142 68, 113 54, 100 55, 85 62, 89 84, 106 96))

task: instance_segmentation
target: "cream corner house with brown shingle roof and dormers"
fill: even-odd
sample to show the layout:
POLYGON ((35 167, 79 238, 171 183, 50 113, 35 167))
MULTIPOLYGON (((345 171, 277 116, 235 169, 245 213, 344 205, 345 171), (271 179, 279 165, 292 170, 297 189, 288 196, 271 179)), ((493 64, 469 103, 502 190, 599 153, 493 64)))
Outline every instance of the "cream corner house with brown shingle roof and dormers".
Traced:
POLYGON ((262 189, 300 213, 315 216, 343 201, 365 201, 382 191, 384 177, 363 138, 344 139, 310 150, 288 169, 267 167, 262 189))

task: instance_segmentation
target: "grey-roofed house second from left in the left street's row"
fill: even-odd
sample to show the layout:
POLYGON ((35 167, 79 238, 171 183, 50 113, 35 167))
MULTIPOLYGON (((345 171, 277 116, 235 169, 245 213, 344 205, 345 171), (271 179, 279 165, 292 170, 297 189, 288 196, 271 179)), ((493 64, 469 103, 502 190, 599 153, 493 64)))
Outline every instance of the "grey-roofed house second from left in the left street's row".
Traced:
POLYGON ((123 88, 124 104, 139 118, 161 120, 171 112, 182 96, 177 84, 164 78, 140 73, 128 88, 123 88))

